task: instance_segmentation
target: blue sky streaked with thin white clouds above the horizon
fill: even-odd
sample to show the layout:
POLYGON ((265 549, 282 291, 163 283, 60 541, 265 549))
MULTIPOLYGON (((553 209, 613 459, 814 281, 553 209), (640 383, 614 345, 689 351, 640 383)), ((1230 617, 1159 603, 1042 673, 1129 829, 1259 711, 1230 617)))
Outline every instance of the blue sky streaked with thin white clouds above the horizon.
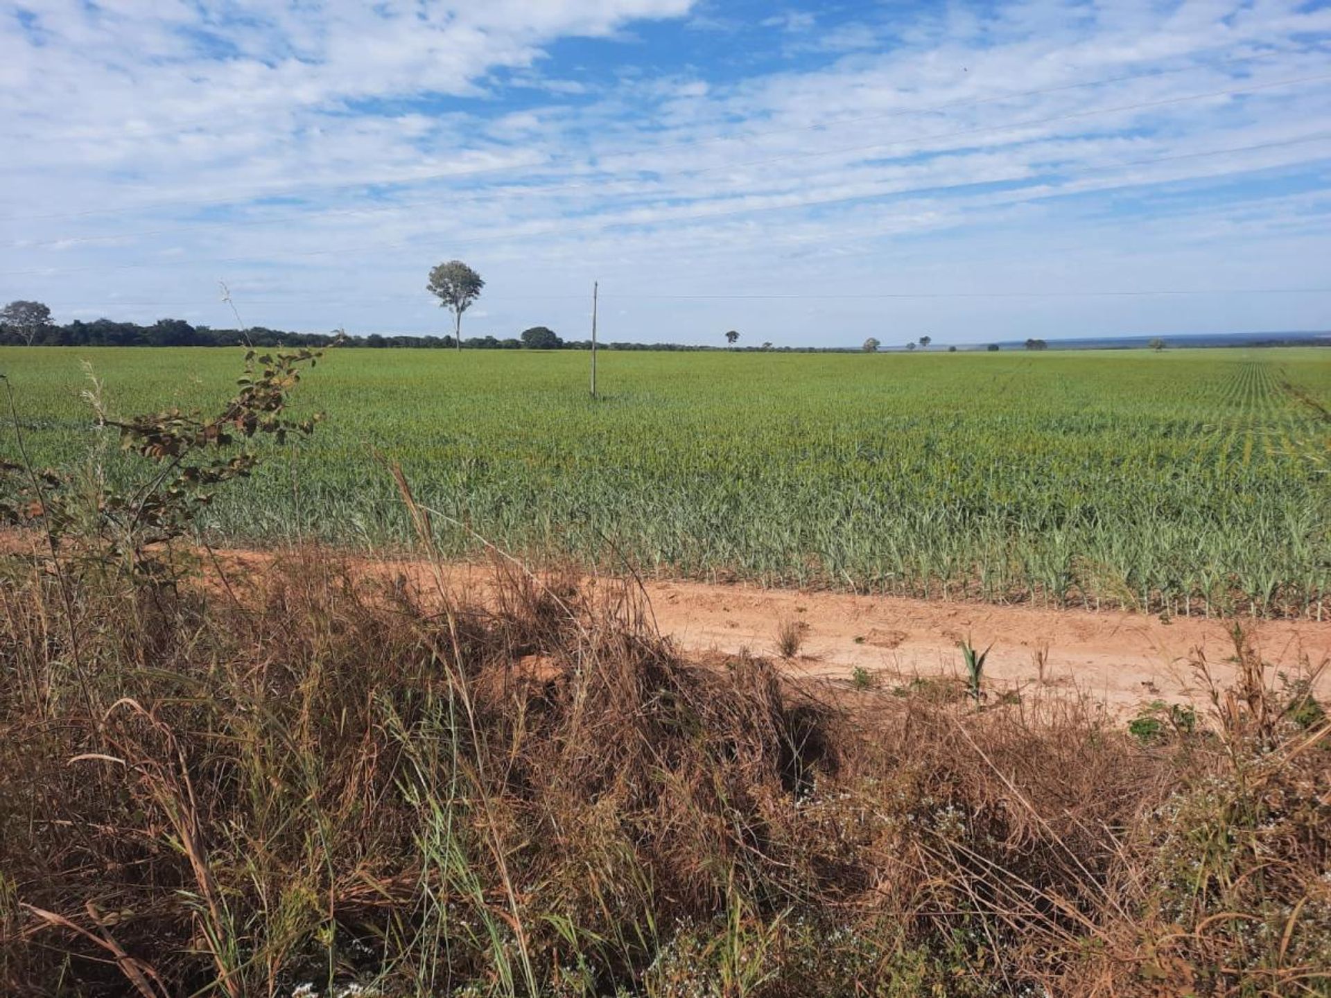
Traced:
POLYGON ((1299 0, 0 0, 0 301, 442 335, 461 258, 463 335, 594 281, 606 341, 1322 330, 1328 56, 1299 0))

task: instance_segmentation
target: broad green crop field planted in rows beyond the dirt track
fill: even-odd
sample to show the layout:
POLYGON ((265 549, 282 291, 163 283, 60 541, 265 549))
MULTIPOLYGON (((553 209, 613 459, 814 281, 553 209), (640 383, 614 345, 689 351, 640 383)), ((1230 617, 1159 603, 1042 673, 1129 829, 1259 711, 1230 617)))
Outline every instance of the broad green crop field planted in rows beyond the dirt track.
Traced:
MULTIPOLYGON (((777 584, 1170 612, 1322 613, 1331 351, 800 355, 335 350, 327 414, 218 498, 225 542, 401 547, 377 454, 534 559, 777 584)), ((112 460, 113 411, 225 397, 241 354, 0 349, 41 464, 112 460)), ((13 427, 4 435, 13 452, 13 427)), ((439 543, 475 550, 437 518, 439 543)))

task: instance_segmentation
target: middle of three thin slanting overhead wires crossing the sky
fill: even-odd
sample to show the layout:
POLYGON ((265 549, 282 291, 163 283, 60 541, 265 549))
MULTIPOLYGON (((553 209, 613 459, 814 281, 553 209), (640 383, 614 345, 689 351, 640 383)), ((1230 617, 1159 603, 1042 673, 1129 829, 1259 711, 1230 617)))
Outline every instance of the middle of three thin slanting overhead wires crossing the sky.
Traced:
MULTIPOLYGON (((1158 101, 1141 101, 1141 102, 1137 102, 1137 104, 1125 104, 1125 105, 1118 105, 1118 106, 1113 106, 1113 108, 1091 108, 1089 110, 1071 112, 1071 113, 1067 113, 1067 114, 1058 114, 1058 116, 1053 116, 1053 117, 1028 118, 1025 121, 1016 121, 1016 122, 1009 122, 1009 124, 1004 124, 1004 125, 984 125, 984 126, 966 128, 966 129, 953 130, 953 132, 932 133, 932 134, 928 134, 928 136, 914 136, 914 137, 909 137, 909 138, 893 140, 893 141, 889 141, 889 142, 876 142, 876 144, 872 144, 872 145, 851 146, 851 148, 843 148, 843 149, 823 149, 823 150, 803 152, 803 153, 789 153, 789 154, 784 154, 784 156, 768 157, 765 160, 755 160, 755 161, 740 162, 740 164, 724 164, 724 165, 717 165, 717 166, 692 168, 692 169, 679 170, 673 176, 675 177, 681 177, 681 176, 689 176, 689 177, 692 177, 692 176, 699 176, 699 174, 705 174, 705 173, 716 173, 716 172, 721 172, 721 170, 739 170, 739 169, 748 169, 748 168, 752 168, 752 166, 767 166, 767 165, 771 165, 771 164, 775 164, 775 162, 784 162, 784 161, 789 161, 789 160, 807 160, 807 158, 817 158, 817 157, 827 157, 827 156, 840 156, 840 154, 845 154, 845 153, 868 152, 868 150, 874 150, 874 149, 894 149, 894 148, 898 148, 898 146, 909 146, 909 145, 916 145, 916 144, 922 144, 922 142, 926 144, 926 142, 930 142, 930 141, 945 140, 945 138, 957 138, 957 137, 965 137, 965 136, 989 134, 989 133, 998 133, 998 132, 1012 132, 1012 130, 1020 130, 1020 129, 1024 129, 1024 128, 1032 128, 1032 126, 1036 126, 1036 125, 1055 124, 1055 122, 1059 122, 1059 121, 1070 121, 1070 120, 1085 118, 1085 117, 1095 117, 1095 116, 1101 116, 1101 114, 1114 114, 1114 113, 1121 113, 1121 112, 1127 112, 1127 110, 1142 110, 1142 109, 1147 109, 1147 108, 1158 108, 1158 106, 1166 106, 1166 105, 1171 105, 1171 104, 1182 104, 1182 102, 1195 101, 1195 100, 1207 100, 1207 98, 1211 98, 1211 97, 1233 96, 1233 94, 1238 94, 1238 93, 1250 93, 1252 90, 1271 89, 1271 88, 1279 88, 1279 86, 1294 86, 1296 84, 1312 83, 1312 81, 1322 81, 1322 80, 1331 80, 1331 73, 1323 73, 1323 75, 1319 75, 1319 76, 1310 76, 1310 77, 1298 77, 1298 79, 1294 79, 1294 80, 1270 81, 1270 83, 1264 83, 1264 84, 1252 84, 1252 85, 1248 85, 1248 86, 1229 88, 1229 89, 1225 89, 1225 90, 1210 90, 1207 93, 1187 94, 1187 96, 1182 96, 1182 97, 1170 97, 1170 98, 1158 100, 1158 101)), ((1299 144, 1299 142, 1303 142, 1303 141, 1312 141, 1312 140, 1302 140, 1300 138, 1300 140, 1294 140, 1294 141, 1284 142, 1284 144, 1286 145, 1295 145, 1295 144, 1299 144)), ((1268 144, 1267 148, 1271 148, 1274 145, 1276 145, 1276 144, 1268 144)), ((1251 146, 1251 148, 1258 148, 1258 146, 1251 146)), ((1230 152, 1230 150, 1221 150, 1221 152, 1230 152)), ((1211 153, 1185 153, 1185 154, 1181 154, 1181 156, 1177 156, 1177 157, 1162 157, 1162 160, 1159 160, 1159 161, 1163 161, 1165 158, 1189 158, 1189 157, 1209 156, 1209 154, 1211 154, 1211 153)), ((1147 162, 1147 161, 1142 161, 1142 162, 1147 162)), ((1123 164, 1123 165, 1137 165, 1137 164, 1123 164)), ((592 184, 592 182, 572 182, 572 184, 566 184, 566 185, 546 186, 542 190, 539 190, 538 193, 550 194, 550 193, 554 193, 554 192, 558 192, 558 190, 570 190, 570 189, 603 189, 604 184, 606 184, 604 181, 596 182, 596 184, 592 184)), ((516 193, 531 193, 531 192, 523 192, 523 190, 519 189, 516 193)), ((411 204, 407 204, 407 205, 393 205, 393 206, 386 206, 386 208, 379 208, 379 209, 371 209, 371 208, 331 209, 331 210, 317 212, 314 217, 319 218, 319 217, 329 217, 329 216, 383 214, 383 213, 391 213, 391 212, 411 210, 411 209, 417 209, 417 208, 429 208, 431 205, 474 204, 474 202, 478 202, 478 201, 494 200, 495 197, 496 197, 496 194, 486 194, 486 196, 482 196, 482 197, 473 197, 473 198, 443 198, 443 200, 438 200, 438 201, 417 201, 417 202, 411 202, 411 204)), ((656 197, 663 197, 663 194, 656 194, 656 197)), ((668 194, 664 194, 664 197, 668 197, 668 194)), ((212 226, 220 226, 220 228, 228 228, 228 226, 264 226, 264 225, 280 224, 281 221, 282 221, 282 218, 280 217, 280 218, 276 218, 276 220, 274 218, 253 218, 253 220, 236 220, 236 221, 186 222, 186 224, 184 224, 184 228, 202 228, 202 226, 209 226, 209 228, 212 228, 212 226)), ((176 226, 176 228, 172 228, 172 229, 149 229, 149 230, 138 230, 138 232, 129 232, 129 233, 112 233, 112 234, 106 234, 106 236, 84 236, 84 237, 73 237, 73 238, 44 240, 44 241, 40 241, 40 242, 28 242, 28 244, 23 244, 23 245, 15 245, 13 248, 15 249, 33 249, 33 248, 43 248, 43 246, 68 246, 68 245, 81 245, 81 244, 88 244, 88 242, 106 242, 106 241, 114 241, 114 240, 142 238, 142 237, 148 237, 148 236, 165 236, 165 234, 176 233, 181 228, 182 226, 176 226)))

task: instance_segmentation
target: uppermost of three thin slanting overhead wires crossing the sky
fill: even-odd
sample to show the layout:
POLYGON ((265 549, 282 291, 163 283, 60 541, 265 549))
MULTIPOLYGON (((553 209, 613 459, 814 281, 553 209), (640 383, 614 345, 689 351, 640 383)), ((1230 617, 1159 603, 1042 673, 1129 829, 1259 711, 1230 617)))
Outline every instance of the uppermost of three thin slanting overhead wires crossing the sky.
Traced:
MULTIPOLYGON (((1089 81, 1085 81, 1085 83, 1061 84, 1061 85, 1057 85, 1057 86, 1045 86, 1045 88, 1038 88, 1038 89, 1032 89, 1032 90, 1014 90, 1014 92, 1008 92, 1008 93, 1002 93, 1002 94, 992 94, 989 97, 980 97, 980 98, 965 100, 965 101, 949 101, 949 102, 936 104, 936 105, 924 106, 924 108, 898 108, 898 109, 893 109, 893 110, 882 112, 882 113, 876 113, 876 114, 864 114, 864 116, 856 116, 856 117, 835 118, 835 120, 827 121, 827 122, 816 122, 816 124, 812 124, 812 125, 799 125, 799 126, 789 126, 789 128, 781 128, 781 129, 769 129, 769 130, 765 130, 765 132, 752 132, 752 133, 747 133, 747 134, 743 134, 743 136, 715 136, 715 137, 709 137, 709 138, 699 138, 699 140, 688 140, 688 141, 680 141, 680 142, 671 142, 671 144, 666 144, 666 145, 652 146, 652 148, 646 149, 646 150, 639 150, 639 149, 630 150, 630 149, 624 149, 624 150, 619 150, 619 152, 603 153, 603 154, 598 156, 596 158, 598 158, 598 161, 599 160, 606 160, 606 158, 634 158, 634 157, 642 157, 644 154, 655 154, 655 153, 660 153, 660 152, 669 152, 669 150, 675 150, 675 149, 687 149, 687 148, 697 148, 697 146, 704 146, 704 145, 715 145, 715 144, 720 144, 720 142, 747 142, 747 141, 752 141, 755 138, 765 138, 765 137, 777 136, 777 134, 793 134, 793 133, 797 133, 797 132, 825 130, 828 128, 837 128, 840 125, 847 125, 847 124, 861 124, 861 122, 865 122, 865 121, 880 121, 880 120, 885 120, 885 118, 902 117, 902 116, 909 116, 909 114, 929 114, 929 113, 934 113, 934 112, 940 112, 940 110, 953 110, 953 109, 957 109, 957 108, 980 106, 980 105, 984 105, 984 104, 993 104, 993 102, 1000 102, 1000 101, 1005 101, 1005 100, 1016 100, 1016 98, 1020 98, 1020 97, 1036 97, 1036 96, 1047 94, 1047 93, 1061 93, 1061 92, 1074 90, 1074 89, 1085 89, 1085 88, 1093 88, 1093 86, 1106 86, 1106 85, 1110 85, 1110 84, 1115 84, 1115 83, 1129 83, 1129 81, 1133 81, 1133 80, 1155 79, 1155 77, 1161 77, 1161 76, 1171 76, 1171 75, 1178 75, 1178 73, 1185 73, 1185 72, 1194 72, 1194 71, 1198 71, 1198 69, 1211 69, 1211 68, 1215 68, 1215 67, 1225 67, 1225 65, 1236 65, 1236 64, 1243 64, 1243 63, 1252 63, 1252 61, 1258 61, 1258 60, 1272 59, 1272 57, 1275 57, 1278 55, 1302 56, 1302 55, 1308 55, 1308 53, 1314 53, 1314 52, 1320 53, 1320 49, 1319 48, 1307 48, 1307 49, 1299 49, 1299 51, 1295 51, 1295 52, 1272 52, 1272 53, 1258 53, 1258 55, 1252 55, 1252 56, 1239 56, 1239 57, 1235 57, 1235 59, 1221 60, 1221 61, 1213 63, 1210 65, 1179 67, 1179 68, 1175 68, 1175 69, 1155 69, 1155 71, 1147 71, 1147 72, 1142 72, 1142 73, 1131 73, 1131 75, 1126 75, 1126 76, 1103 77, 1103 79, 1099 79, 1099 80, 1089 80, 1089 81)), ((563 157, 563 161, 564 162, 570 162, 570 164, 580 162, 579 160, 575 160, 574 157, 568 157, 568 156, 563 157)), ((145 202, 145 204, 140 204, 140 205, 128 205, 128 206, 120 206, 120 208, 93 208, 93 209, 87 209, 84 212, 71 212, 71 213, 59 213, 59 214, 0 216, 0 222, 53 221, 53 220, 61 220, 61 218, 84 218, 84 217, 100 216, 100 214, 121 214, 121 213, 125 213, 125 212, 150 212, 150 210, 156 210, 158 208, 173 208, 173 206, 181 206, 181 205, 204 208, 204 206, 216 206, 216 205, 232 204, 236 200, 253 201, 256 198, 264 198, 264 197, 278 197, 278 196, 281 196, 281 194, 284 194, 286 192, 291 192, 291 190, 310 190, 310 189, 350 190, 350 189, 357 189, 357 188, 365 188, 365 186, 373 186, 373 185, 386 185, 386 184, 391 184, 391 185, 422 184, 422 182, 429 182, 429 181, 434 181, 434 180, 451 180, 451 178, 455 178, 455 177, 473 177, 473 176, 482 176, 482 174, 487 174, 487 173, 506 173, 506 172, 511 172, 511 170, 516 170, 516 169, 530 169, 530 168, 540 168, 540 166, 550 168, 550 166, 558 165, 558 162, 559 161, 556 160, 556 161, 544 161, 544 162, 510 164, 510 165, 506 165, 506 166, 478 166, 478 168, 466 169, 466 170, 446 170, 446 172, 441 172, 441 173, 422 174, 422 176, 418 176, 418 177, 407 177, 407 178, 403 178, 403 180, 389 180, 389 181, 357 181, 357 182, 353 182, 353 184, 333 184, 333 185, 295 185, 295 186, 281 188, 281 189, 277 189, 277 190, 256 192, 256 193, 244 196, 244 198, 241 198, 241 197, 232 197, 232 198, 221 198, 221 200, 213 200, 213 201, 196 201, 193 198, 173 198, 173 200, 166 200, 166 201, 145 202)), ((721 168, 721 169, 724 169, 724 168, 721 168)), ((579 184, 578 186, 586 186, 586 185, 579 184)))

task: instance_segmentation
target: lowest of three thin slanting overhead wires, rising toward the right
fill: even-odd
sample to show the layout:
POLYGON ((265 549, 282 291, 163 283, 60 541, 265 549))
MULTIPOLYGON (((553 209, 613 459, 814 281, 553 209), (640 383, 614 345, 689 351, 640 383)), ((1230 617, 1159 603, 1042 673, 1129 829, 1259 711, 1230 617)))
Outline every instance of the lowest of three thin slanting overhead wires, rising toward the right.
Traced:
MULTIPOLYGON (((1229 149, 1210 149, 1210 150, 1197 152, 1197 153, 1178 153, 1178 154, 1171 154, 1171 156, 1150 157, 1150 158, 1143 158, 1143 160, 1129 160, 1129 161, 1122 161, 1122 162, 1117 162, 1117 164, 1109 164, 1109 165, 1105 165, 1105 166, 1097 166, 1097 168, 1089 169, 1089 170, 1081 170, 1081 172, 1074 173, 1073 176, 1074 177, 1086 177, 1086 176, 1094 176, 1097 173, 1109 173, 1109 172, 1118 170, 1118 169, 1125 169, 1125 168, 1129 168, 1129 166, 1145 166, 1145 165, 1151 165, 1151 164, 1155 164, 1155 162, 1171 162, 1171 161, 1175 161, 1175 160, 1198 160, 1198 158, 1206 158, 1206 157, 1210 157, 1210 156, 1231 156, 1234 153, 1258 152, 1258 150, 1263 150, 1263 149, 1276 149, 1276 148, 1294 146, 1294 145, 1307 145, 1310 142, 1319 142, 1319 141, 1327 141, 1327 140, 1331 140, 1331 133, 1319 133, 1319 134, 1314 134, 1314 136, 1303 136, 1303 137, 1299 137, 1299 138, 1291 138, 1291 140, 1283 140, 1283 141, 1274 141, 1274 142, 1258 142, 1258 144, 1247 145, 1247 146, 1231 146, 1229 149)), ((1004 182, 1004 181, 1009 181, 1009 180, 1029 180, 1029 178, 1032 178, 1032 174, 1029 172, 1022 172, 1022 173, 1017 173, 1017 174, 1004 174, 1004 176, 998 176, 998 177, 993 177, 992 176, 992 177, 980 177, 980 178, 968 180, 966 184, 965 184, 965 186, 978 186, 981 184, 996 184, 996 182, 1004 182)), ((933 189, 933 188, 925 186, 925 188, 918 188, 918 189, 929 190, 929 189, 933 189)), ((733 216, 737 216, 737 214, 753 214, 753 213, 761 213, 761 212, 791 210, 791 209, 799 209, 799 208, 824 208, 827 205, 847 204, 847 202, 853 202, 853 201, 866 201, 866 200, 870 200, 870 198, 900 196, 900 194, 905 194, 905 193, 910 193, 910 192, 874 192, 874 193, 870 193, 870 194, 851 194, 851 196, 845 196, 845 197, 812 198, 812 200, 804 200, 804 201, 799 201, 799 202, 793 202, 793 204, 760 205, 760 206, 749 205, 749 206, 741 206, 741 208, 736 208, 736 209, 728 209, 728 210, 724 210, 724 212, 708 212, 708 213, 693 214, 693 216, 676 216, 673 218, 658 220, 658 221, 651 221, 651 222, 636 221, 636 220, 592 222, 592 224, 588 224, 588 225, 566 225, 566 224, 558 224, 556 222, 554 225, 554 228, 546 229, 543 232, 535 232, 535 233, 531 233, 531 232, 527 232, 527 233, 508 233, 508 234, 491 236, 491 237, 479 237, 479 238, 471 238, 471 240, 462 240, 459 242, 455 242, 454 245, 459 246, 459 248, 471 248, 471 246, 476 246, 476 245, 494 244, 494 242, 504 242, 504 241, 510 241, 510 240, 526 240, 526 238, 534 238, 534 237, 539 238, 542 236, 555 236, 555 234, 564 234, 564 233, 587 233, 587 232, 603 232, 603 230, 607 230, 607 229, 626 228, 626 226, 627 228, 635 228, 635 226, 642 226, 642 225, 668 225, 668 224, 677 224, 677 222, 711 221, 711 220, 715 220, 715 218, 733 217, 733 216)), ((287 254, 285 254, 285 257, 305 259, 305 258, 325 257, 325 255, 355 255, 355 254, 359 254, 359 253, 378 253, 378 251, 390 250, 390 249, 406 249, 407 246, 411 246, 411 245, 413 245, 413 242, 386 242, 386 244, 373 244, 373 245, 361 245, 361 246, 343 246, 343 248, 339 248, 339 249, 302 250, 302 251, 297 251, 297 253, 287 253, 287 254)), ((209 262, 209 263, 245 263, 245 262, 249 262, 250 259, 252 259, 252 257, 221 257, 221 258, 209 259, 209 261, 205 261, 205 262, 209 262)), ((31 270, 7 270, 7 271, 0 271, 0 277, 33 277, 33 275, 45 275, 45 274, 87 273, 87 271, 92 271, 92 270, 133 270, 133 269, 141 269, 141 267, 176 267, 176 266, 193 266, 197 262, 200 262, 200 261, 170 259, 170 261, 157 261, 157 262, 153 262, 153 261, 137 261, 137 262, 132 262, 132 263, 110 263, 110 265, 104 265, 104 266, 37 267, 37 269, 31 269, 31 270)))

